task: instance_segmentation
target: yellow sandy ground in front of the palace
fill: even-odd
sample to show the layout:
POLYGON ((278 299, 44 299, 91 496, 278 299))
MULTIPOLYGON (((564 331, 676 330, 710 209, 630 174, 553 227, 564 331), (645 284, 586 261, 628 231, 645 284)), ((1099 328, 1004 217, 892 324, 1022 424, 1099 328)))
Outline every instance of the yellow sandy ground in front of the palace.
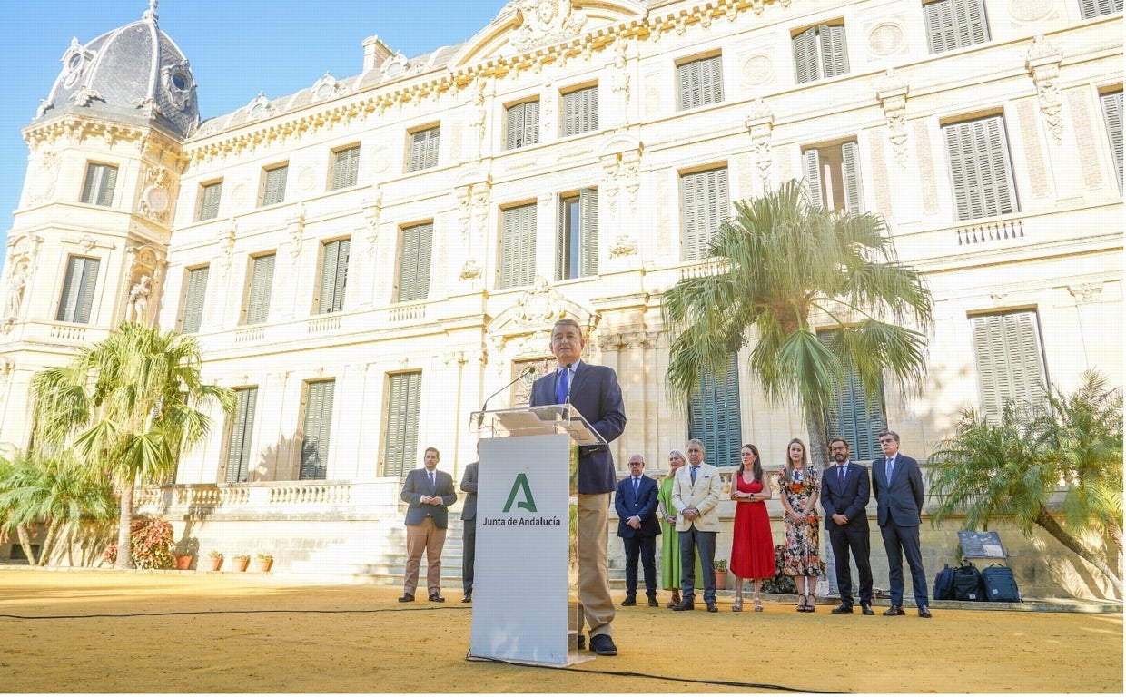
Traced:
POLYGON ((619 654, 561 670, 466 661, 455 591, 406 605, 397 588, 247 573, 0 570, 0 690, 1123 691, 1121 614, 736 614, 721 597, 718 614, 619 608, 619 654))

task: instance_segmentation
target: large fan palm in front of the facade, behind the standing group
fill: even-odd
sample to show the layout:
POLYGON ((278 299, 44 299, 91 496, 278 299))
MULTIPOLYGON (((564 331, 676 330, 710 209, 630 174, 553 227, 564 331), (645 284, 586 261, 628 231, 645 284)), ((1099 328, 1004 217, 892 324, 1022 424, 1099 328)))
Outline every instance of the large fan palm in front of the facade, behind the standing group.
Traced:
POLYGON ((919 271, 896 261, 882 217, 814 205, 793 180, 735 202, 709 254, 713 272, 682 278, 664 298, 665 323, 682 330, 665 374, 677 396, 687 401, 701 375, 722 374, 753 327, 750 369, 771 402, 797 396, 823 468, 828 409, 847 373, 877 400, 885 372, 901 387, 921 383, 931 295, 919 271), (815 314, 837 330, 828 346, 815 314))

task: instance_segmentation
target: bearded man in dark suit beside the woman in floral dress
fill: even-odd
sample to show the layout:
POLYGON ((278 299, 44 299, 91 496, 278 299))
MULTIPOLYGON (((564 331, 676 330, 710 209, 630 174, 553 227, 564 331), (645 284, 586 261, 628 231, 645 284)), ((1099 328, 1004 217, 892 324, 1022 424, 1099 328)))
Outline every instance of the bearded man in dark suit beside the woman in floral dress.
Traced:
POLYGON ((841 604, 832 609, 833 615, 852 611, 852 570, 849 569, 849 549, 860 572, 860 611, 875 615, 872 610, 872 563, 868 556, 872 543, 868 537, 869 492, 868 471, 864 465, 849 462, 848 441, 833 438, 829 441, 829 455, 834 464, 821 479, 821 508, 825 511, 825 529, 837 560, 837 586, 841 591, 841 604))

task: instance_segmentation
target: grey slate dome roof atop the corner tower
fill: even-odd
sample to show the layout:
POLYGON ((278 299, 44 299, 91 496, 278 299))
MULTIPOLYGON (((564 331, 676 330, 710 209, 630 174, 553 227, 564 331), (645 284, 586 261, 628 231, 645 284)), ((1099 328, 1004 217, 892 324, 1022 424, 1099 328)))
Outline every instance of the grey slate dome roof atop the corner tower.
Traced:
POLYGON ((37 118, 81 113, 138 125, 155 124, 180 138, 199 126, 196 81, 188 59, 157 26, 152 6, 134 23, 89 44, 71 39, 62 72, 37 118))

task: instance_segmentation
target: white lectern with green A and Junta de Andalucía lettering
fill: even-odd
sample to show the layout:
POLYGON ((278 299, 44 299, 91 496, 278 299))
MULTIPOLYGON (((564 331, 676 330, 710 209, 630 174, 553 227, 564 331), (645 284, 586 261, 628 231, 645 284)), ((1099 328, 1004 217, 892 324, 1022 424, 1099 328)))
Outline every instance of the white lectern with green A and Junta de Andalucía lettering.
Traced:
POLYGON ((571 497, 581 445, 606 441, 569 404, 474 412, 482 436, 471 660, 571 665, 571 497))

